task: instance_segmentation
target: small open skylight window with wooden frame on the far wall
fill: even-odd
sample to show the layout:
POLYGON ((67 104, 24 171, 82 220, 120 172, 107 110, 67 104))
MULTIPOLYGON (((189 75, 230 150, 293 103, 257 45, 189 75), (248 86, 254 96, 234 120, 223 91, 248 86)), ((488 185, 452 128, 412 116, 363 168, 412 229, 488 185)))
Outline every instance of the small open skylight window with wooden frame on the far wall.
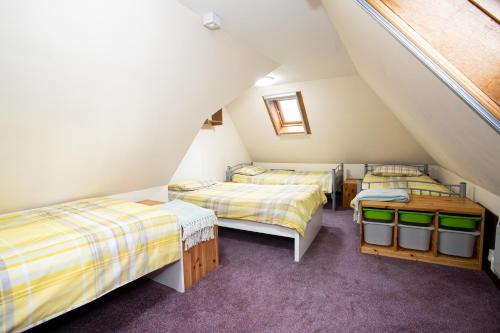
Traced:
POLYGON ((264 102, 276 135, 311 134, 300 91, 264 96, 264 102))

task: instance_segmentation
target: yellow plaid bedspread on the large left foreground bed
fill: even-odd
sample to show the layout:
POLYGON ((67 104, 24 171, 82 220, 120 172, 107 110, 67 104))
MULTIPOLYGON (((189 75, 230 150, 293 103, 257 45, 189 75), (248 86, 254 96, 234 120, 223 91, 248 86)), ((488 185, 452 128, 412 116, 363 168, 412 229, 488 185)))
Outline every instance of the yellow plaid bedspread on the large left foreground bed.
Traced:
POLYGON ((177 217, 109 198, 0 215, 0 323, 22 331, 180 258, 177 217))

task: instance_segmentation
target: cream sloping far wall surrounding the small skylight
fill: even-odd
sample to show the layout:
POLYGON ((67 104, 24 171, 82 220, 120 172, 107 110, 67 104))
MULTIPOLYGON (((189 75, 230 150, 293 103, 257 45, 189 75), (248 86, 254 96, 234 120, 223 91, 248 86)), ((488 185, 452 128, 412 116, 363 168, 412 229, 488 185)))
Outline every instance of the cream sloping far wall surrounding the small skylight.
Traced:
POLYGON ((255 161, 432 162, 358 76, 252 88, 227 109, 255 161), (277 136, 262 96, 297 90, 302 91, 312 134, 277 136))

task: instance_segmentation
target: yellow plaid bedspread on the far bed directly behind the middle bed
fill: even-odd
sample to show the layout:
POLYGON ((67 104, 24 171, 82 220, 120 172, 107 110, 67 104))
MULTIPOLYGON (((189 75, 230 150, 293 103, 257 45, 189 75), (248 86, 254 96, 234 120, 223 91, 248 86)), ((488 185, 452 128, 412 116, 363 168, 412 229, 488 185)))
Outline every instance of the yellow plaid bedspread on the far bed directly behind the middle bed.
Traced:
POLYGON ((320 185, 325 193, 332 191, 331 171, 269 170, 255 176, 233 175, 233 182, 260 185, 320 185))

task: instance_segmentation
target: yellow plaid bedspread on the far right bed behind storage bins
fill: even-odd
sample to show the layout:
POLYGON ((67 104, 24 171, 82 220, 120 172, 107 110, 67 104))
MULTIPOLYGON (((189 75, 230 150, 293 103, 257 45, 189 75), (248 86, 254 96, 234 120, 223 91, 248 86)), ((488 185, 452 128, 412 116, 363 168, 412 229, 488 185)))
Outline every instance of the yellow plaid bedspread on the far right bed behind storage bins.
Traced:
POLYGON ((439 184, 437 181, 435 181, 429 176, 383 177, 383 176, 374 176, 371 173, 366 174, 365 177, 363 178, 362 188, 363 190, 367 190, 369 188, 370 189, 409 188, 410 190, 408 192, 413 195, 434 195, 434 196, 439 195, 439 193, 429 192, 429 190, 442 192, 443 195, 449 192, 446 186, 439 184), (384 182, 384 183, 372 183, 372 182, 384 182), (428 183, 421 183, 421 182, 428 182, 428 183), (411 190, 415 188, 422 189, 423 191, 411 190))

